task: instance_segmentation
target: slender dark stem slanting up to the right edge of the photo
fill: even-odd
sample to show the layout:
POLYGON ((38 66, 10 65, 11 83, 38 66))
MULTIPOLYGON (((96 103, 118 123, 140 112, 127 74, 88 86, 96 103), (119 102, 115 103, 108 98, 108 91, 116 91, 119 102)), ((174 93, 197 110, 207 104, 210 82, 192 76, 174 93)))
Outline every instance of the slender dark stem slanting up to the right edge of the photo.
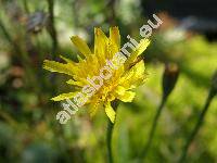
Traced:
POLYGON ((187 139, 187 142, 186 142, 186 145, 183 147, 182 154, 180 156, 179 163, 184 162, 187 153, 188 153, 188 149, 189 149, 191 142, 193 141, 193 139, 195 138, 196 134, 199 133, 200 128, 203 125, 204 117, 205 117, 205 115, 206 115, 206 113, 208 111, 208 106, 209 106, 214 96, 215 95, 210 91, 208 97, 207 97, 207 99, 206 99, 205 105, 204 105, 204 108, 203 108, 203 110, 202 110, 202 112, 201 112, 201 114, 199 116, 199 121, 196 122, 196 125, 194 126, 193 131, 191 133, 191 135, 187 139))

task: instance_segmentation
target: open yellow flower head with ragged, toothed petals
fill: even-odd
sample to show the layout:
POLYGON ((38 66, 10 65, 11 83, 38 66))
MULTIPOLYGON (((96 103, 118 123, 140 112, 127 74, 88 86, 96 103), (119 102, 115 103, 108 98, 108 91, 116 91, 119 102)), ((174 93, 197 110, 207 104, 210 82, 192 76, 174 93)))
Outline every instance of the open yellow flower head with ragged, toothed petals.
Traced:
POLYGON ((86 101, 82 102, 90 106, 91 115, 94 115, 100 105, 103 105, 106 115, 111 122, 114 123, 115 111, 111 106, 111 102, 115 99, 124 102, 131 102, 135 98, 132 89, 141 85, 145 79, 144 63, 142 60, 138 61, 138 57, 146 49, 150 41, 148 39, 142 39, 139 45, 131 50, 130 54, 127 54, 128 58, 126 58, 126 55, 120 55, 122 53, 119 52, 122 49, 118 27, 110 28, 108 38, 100 28, 95 28, 93 52, 78 36, 72 37, 72 41, 81 53, 81 57, 78 55, 78 62, 74 62, 64 57, 61 58, 66 63, 44 60, 43 68, 72 76, 72 79, 66 83, 76 88, 75 91, 62 93, 52 98, 52 100, 62 101, 75 98, 79 90, 84 90, 85 86, 90 85, 87 78, 91 79, 91 77, 99 76, 101 73, 101 75, 103 74, 106 76, 106 79, 103 80, 103 85, 102 83, 100 85, 100 80, 98 80, 95 85, 100 85, 100 88, 94 88, 93 90, 93 88, 90 89, 89 87, 89 92, 85 95, 86 101), (103 68, 102 72, 102 67, 106 68, 103 68))

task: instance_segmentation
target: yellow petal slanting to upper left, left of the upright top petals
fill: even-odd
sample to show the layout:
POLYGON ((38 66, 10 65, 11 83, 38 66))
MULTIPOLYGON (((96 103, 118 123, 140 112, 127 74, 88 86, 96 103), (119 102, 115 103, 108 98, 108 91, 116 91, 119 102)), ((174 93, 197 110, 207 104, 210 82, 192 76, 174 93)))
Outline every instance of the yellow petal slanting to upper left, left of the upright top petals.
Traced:
POLYGON ((71 40, 73 41, 73 43, 76 46, 76 48, 85 55, 89 55, 91 54, 91 50, 88 47, 88 45, 78 36, 73 36, 71 38, 71 40))

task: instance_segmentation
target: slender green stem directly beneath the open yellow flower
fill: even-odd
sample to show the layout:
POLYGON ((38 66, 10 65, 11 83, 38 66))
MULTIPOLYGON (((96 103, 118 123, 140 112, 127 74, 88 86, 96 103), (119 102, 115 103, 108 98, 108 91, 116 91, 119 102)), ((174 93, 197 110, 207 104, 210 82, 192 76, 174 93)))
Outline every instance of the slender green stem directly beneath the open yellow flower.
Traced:
POLYGON ((111 123, 108 120, 107 122, 107 159, 108 163, 113 163, 113 155, 112 155, 112 134, 113 134, 114 124, 111 123))

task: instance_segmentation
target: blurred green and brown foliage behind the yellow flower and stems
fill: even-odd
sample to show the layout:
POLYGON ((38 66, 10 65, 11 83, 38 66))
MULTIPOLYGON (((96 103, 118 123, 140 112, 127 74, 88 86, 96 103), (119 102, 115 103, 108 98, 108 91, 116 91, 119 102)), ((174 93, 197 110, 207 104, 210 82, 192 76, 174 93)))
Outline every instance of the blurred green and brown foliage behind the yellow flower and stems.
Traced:
MULTIPOLYGON (((50 99, 72 89, 66 76, 42 70, 44 59, 76 60, 69 37, 78 35, 93 47, 93 28, 118 26, 122 43, 148 16, 140 0, 0 0, 0 162, 106 162, 107 117, 93 118, 79 110, 66 125, 55 120, 60 103, 50 99)), ((146 162, 177 162, 205 103, 217 68, 217 42, 179 28, 178 21, 158 13, 161 28, 143 53, 148 79, 132 103, 120 103, 113 135, 114 162, 139 162, 162 99, 165 63, 180 75, 161 115, 146 162)), ((190 146, 187 162, 217 162, 217 99, 190 146)), ((142 160, 141 162, 144 162, 142 160)))

